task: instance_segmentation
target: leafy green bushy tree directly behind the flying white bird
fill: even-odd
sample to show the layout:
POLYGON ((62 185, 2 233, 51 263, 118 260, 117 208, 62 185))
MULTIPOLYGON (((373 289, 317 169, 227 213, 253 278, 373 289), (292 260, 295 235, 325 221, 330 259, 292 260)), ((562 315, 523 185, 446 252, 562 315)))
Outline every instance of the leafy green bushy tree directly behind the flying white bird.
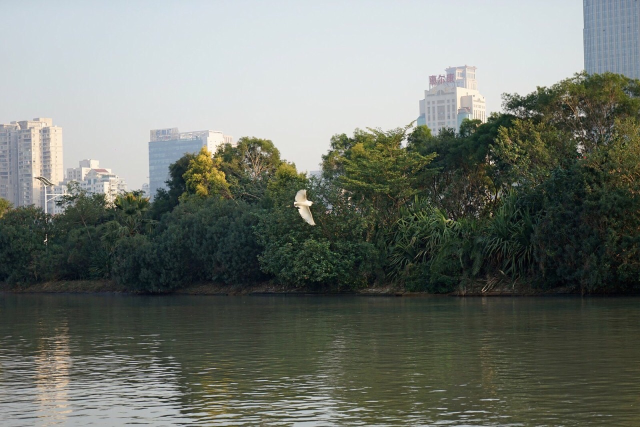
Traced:
POLYGON ((260 215, 255 234, 264 248, 260 268, 282 284, 350 289, 372 280, 375 254, 363 240, 367 225, 344 192, 330 182, 334 181, 308 179, 287 163, 269 182, 272 205, 260 215), (314 201, 316 226, 304 222, 293 207, 300 189, 307 189, 314 201))

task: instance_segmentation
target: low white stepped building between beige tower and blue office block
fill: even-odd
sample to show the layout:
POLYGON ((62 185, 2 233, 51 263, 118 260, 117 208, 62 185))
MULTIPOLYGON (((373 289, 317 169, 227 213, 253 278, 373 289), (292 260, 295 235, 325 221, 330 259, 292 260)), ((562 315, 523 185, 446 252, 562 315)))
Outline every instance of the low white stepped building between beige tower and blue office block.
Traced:
MULTIPOLYGON (((65 180, 49 191, 55 195, 65 195, 68 193, 67 184, 72 181, 77 182, 80 188, 89 195, 106 195, 106 200, 109 203, 113 202, 118 194, 127 191, 127 182, 124 179, 120 179, 118 175, 111 172, 111 169, 100 168, 99 161, 92 159, 81 160, 77 168, 68 168, 65 180)), ((64 207, 56 205, 50 212, 59 214, 64 210, 64 207)))

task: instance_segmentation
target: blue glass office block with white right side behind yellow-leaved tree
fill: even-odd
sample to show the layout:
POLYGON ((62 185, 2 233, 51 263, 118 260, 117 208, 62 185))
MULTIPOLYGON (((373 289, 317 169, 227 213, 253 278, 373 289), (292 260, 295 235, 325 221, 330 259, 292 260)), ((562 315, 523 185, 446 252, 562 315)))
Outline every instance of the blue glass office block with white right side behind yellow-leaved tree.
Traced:
POLYGON ((159 188, 166 189, 169 166, 186 153, 197 153, 202 147, 214 152, 219 145, 233 143, 233 137, 216 131, 178 132, 177 127, 153 129, 149 138, 149 191, 156 197, 159 188))

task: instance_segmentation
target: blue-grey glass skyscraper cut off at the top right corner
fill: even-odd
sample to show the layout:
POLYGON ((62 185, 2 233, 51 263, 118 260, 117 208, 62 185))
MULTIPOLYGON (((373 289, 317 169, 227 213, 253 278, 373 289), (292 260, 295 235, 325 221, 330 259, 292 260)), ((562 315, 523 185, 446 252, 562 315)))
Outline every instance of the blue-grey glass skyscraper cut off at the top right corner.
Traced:
POLYGON ((583 0, 584 69, 640 79, 640 1, 583 0))

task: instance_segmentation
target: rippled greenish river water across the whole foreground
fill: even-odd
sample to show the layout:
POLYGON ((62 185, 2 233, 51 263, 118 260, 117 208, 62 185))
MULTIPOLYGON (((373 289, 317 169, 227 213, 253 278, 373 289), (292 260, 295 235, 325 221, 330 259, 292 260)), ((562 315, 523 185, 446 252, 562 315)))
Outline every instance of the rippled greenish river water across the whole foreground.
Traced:
POLYGON ((0 424, 638 426, 639 303, 0 295, 0 424))

